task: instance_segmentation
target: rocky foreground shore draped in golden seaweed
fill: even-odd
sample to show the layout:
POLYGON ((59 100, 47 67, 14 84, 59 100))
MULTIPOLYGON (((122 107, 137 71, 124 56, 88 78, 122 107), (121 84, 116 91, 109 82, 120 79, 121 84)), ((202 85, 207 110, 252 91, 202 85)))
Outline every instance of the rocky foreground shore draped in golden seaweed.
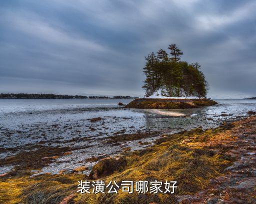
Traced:
MULTIPOLYGON (((0 175, 3 204, 254 204, 256 203, 256 116, 162 135, 153 146, 104 158, 88 176, 32 176, 29 168, 0 175), (82 194, 80 180, 177 181, 174 194, 82 194)), ((14 158, 15 159, 15 158, 14 158)), ((32 168, 32 167, 31 167, 32 168)), ((35 167, 33 167, 35 168, 35 167)))

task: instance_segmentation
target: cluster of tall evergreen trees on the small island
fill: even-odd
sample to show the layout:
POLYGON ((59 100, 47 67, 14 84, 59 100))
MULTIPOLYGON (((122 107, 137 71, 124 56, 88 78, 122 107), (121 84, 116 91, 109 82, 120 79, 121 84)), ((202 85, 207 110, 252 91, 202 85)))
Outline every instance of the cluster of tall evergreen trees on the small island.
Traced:
POLYGON ((168 49, 169 53, 159 49, 157 55, 152 52, 145 57, 145 96, 157 92, 170 97, 205 97, 207 82, 200 65, 197 62, 189 64, 180 61, 183 52, 175 44, 170 44, 168 49))

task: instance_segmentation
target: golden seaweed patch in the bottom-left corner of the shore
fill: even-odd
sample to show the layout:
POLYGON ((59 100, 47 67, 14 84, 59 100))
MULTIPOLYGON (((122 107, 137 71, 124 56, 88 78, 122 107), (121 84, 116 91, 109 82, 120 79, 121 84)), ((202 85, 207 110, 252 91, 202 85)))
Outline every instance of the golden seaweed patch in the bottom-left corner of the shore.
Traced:
POLYGON ((0 180, 0 204, 58 204, 76 189, 82 175, 15 176, 0 180))

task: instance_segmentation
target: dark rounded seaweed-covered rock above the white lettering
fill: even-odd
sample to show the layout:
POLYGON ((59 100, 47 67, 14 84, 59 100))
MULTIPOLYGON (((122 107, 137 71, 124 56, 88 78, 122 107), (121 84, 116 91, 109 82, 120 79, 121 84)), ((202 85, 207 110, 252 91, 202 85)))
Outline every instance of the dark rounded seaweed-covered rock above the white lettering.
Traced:
POLYGON ((123 170, 127 161, 125 157, 120 157, 118 160, 110 158, 99 161, 90 171, 89 179, 98 179, 100 177, 108 176, 113 172, 123 170))

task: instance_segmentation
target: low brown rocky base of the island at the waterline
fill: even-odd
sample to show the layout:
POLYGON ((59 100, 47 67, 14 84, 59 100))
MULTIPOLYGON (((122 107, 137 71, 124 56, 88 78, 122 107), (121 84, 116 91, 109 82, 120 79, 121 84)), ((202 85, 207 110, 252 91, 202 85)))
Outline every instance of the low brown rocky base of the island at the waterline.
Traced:
POLYGON ((183 109, 183 108, 200 108, 212 106, 217 102, 210 99, 153 99, 138 98, 131 101, 126 108, 141 109, 183 109))

